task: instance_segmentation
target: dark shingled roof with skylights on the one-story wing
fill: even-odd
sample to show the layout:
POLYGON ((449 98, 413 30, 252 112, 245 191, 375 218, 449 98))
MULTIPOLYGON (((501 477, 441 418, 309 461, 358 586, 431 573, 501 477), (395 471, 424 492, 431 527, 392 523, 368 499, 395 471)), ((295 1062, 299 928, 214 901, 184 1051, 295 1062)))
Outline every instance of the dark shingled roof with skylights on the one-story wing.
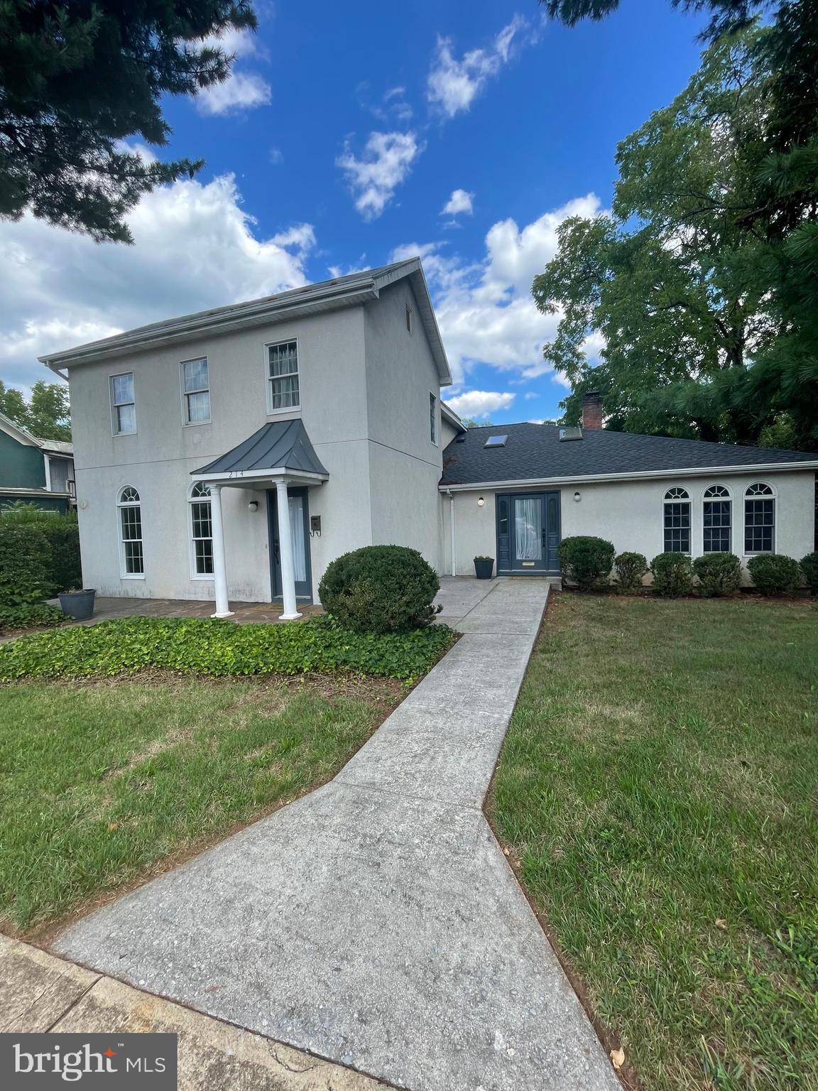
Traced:
POLYGON ((586 429, 581 440, 560 440, 554 424, 496 424, 470 428, 443 453, 441 484, 526 481, 645 473, 658 470, 727 469, 814 463, 818 455, 774 447, 739 447, 731 443, 674 440, 586 429), (485 447, 490 435, 507 435, 505 446, 485 447))

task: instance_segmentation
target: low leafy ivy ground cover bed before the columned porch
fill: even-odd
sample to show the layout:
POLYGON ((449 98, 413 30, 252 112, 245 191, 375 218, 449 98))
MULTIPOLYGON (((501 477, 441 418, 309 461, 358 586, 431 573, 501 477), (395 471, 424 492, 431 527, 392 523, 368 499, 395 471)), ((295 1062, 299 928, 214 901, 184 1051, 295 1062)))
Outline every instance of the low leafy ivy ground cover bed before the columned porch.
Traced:
POLYGON ((129 674, 145 668, 217 676, 353 671, 414 679, 455 638, 446 625, 411 633, 350 633, 326 616, 297 625, 128 618, 70 625, 1 645, 0 682, 129 674))

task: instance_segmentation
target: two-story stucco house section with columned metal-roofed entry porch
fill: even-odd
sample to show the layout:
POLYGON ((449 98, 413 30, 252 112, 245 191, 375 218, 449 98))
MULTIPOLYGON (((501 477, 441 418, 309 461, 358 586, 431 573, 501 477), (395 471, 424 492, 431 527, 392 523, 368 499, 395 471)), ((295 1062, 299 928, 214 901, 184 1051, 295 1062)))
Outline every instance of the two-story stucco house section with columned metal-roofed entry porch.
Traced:
MULTIPOLYGON (((420 261, 44 358, 68 371, 83 577, 100 595, 317 601, 329 561, 441 568, 446 353, 420 261)), ((450 428, 450 424, 448 425, 450 428)))

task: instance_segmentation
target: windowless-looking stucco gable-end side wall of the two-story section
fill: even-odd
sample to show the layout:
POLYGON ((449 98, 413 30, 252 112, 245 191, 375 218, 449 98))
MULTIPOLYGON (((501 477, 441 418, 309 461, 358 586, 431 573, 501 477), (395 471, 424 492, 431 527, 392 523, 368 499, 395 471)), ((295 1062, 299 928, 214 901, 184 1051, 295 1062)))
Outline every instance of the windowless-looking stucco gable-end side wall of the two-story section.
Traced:
POLYGON ((398 281, 364 308, 370 505, 374 544, 410 546, 441 571, 443 434, 440 377, 409 283, 398 281), (412 332, 406 308, 412 310, 412 332), (436 401, 431 440, 429 395, 436 401))

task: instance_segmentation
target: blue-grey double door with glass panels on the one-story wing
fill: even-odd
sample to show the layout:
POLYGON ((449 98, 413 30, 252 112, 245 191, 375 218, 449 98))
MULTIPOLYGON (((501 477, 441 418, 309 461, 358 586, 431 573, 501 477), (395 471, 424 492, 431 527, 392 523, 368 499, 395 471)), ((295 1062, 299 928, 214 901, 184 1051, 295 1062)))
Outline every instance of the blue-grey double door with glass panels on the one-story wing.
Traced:
POLYGON ((497 575, 560 572, 558 492, 500 493, 496 512, 497 575))

